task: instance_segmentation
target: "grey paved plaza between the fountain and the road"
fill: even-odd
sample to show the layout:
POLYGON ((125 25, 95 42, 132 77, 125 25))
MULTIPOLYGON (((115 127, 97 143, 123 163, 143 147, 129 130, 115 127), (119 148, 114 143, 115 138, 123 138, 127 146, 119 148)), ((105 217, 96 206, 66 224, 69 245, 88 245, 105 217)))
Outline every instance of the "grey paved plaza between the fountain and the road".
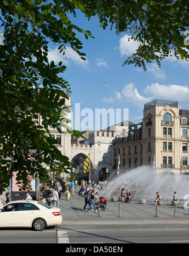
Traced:
POLYGON ((154 223, 189 223, 189 210, 184 209, 183 204, 171 206, 170 203, 164 203, 163 206, 156 206, 154 202, 139 204, 132 202, 112 202, 107 199, 108 211, 91 213, 83 211, 84 196, 79 195, 79 188, 75 189, 74 196, 66 200, 66 194, 61 195, 60 209, 62 213, 62 224, 154 224, 154 223))

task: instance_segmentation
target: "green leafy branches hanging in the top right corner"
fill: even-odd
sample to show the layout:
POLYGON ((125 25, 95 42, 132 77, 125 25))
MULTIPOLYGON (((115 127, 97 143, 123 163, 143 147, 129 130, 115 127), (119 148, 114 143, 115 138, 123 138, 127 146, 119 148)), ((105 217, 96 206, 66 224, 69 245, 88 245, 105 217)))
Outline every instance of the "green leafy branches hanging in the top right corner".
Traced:
POLYGON ((104 29, 117 34, 129 33, 138 48, 123 66, 143 67, 161 61, 168 55, 188 61, 189 2, 187 0, 83 0, 84 6, 95 11, 104 29))

